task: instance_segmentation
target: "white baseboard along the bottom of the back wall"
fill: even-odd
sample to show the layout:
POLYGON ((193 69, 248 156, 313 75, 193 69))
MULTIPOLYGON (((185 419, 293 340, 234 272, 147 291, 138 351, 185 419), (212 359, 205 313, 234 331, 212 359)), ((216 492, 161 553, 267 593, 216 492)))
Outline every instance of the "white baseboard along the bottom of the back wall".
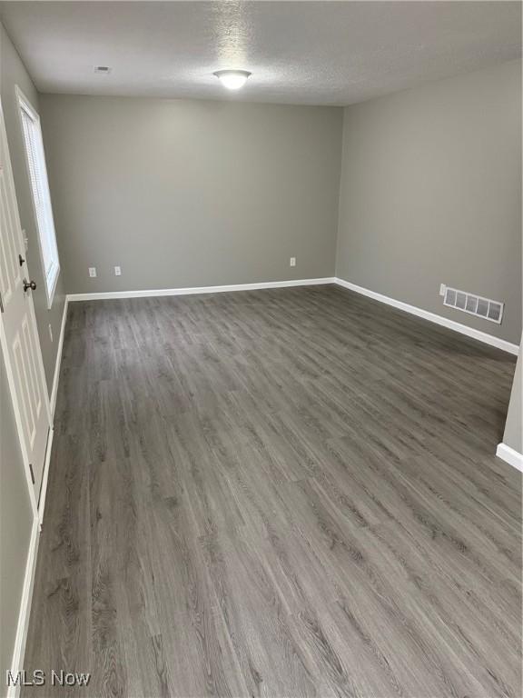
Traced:
POLYGON ((257 291, 262 288, 286 288, 288 286, 315 286, 333 284, 334 278, 297 279, 291 281, 263 281, 257 284, 232 284, 227 286, 194 286, 191 288, 157 288, 146 291, 106 291, 98 294, 68 294, 68 301, 103 301, 109 298, 145 298, 155 295, 223 294, 231 291, 257 291))

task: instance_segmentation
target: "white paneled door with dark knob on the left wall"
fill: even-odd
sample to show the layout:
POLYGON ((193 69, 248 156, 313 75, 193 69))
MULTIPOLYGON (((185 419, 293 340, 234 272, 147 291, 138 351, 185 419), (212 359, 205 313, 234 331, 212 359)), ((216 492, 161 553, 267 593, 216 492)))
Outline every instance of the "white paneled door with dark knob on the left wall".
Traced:
POLYGON ((0 105, 0 340, 34 507, 37 507, 51 412, 35 321, 24 235, 16 204, 0 105))

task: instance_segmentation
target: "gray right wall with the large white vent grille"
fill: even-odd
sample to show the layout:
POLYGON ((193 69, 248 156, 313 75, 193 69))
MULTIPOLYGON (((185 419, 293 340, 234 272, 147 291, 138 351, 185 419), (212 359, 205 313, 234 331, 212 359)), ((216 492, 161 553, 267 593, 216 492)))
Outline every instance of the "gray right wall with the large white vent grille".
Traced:
POLYGON ((521 336, 521 64, 345 109, 337 275, 509 342, 521 336), (501 326, 439 284, 506 303, 501 326))

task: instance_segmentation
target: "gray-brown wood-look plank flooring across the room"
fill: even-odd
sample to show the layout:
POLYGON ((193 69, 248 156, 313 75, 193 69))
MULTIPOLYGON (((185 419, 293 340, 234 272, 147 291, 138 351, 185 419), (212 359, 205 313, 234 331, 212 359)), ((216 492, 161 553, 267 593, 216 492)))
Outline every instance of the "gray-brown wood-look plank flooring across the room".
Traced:
POLYGON ((25 669, 518 698, 513 372, 334 286, 70 304, 25 669))

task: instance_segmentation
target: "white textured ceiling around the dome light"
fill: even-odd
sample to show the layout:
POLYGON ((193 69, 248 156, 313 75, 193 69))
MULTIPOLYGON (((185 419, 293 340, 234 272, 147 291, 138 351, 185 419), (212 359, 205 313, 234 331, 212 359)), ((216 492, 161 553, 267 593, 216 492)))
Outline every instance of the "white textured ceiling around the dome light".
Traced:
POLYGON ((517 2, 7 2, 0 17, 55 93, 349 105, 521 55, 517 2), (231 95, 220 68, 252 77, 231 95))

